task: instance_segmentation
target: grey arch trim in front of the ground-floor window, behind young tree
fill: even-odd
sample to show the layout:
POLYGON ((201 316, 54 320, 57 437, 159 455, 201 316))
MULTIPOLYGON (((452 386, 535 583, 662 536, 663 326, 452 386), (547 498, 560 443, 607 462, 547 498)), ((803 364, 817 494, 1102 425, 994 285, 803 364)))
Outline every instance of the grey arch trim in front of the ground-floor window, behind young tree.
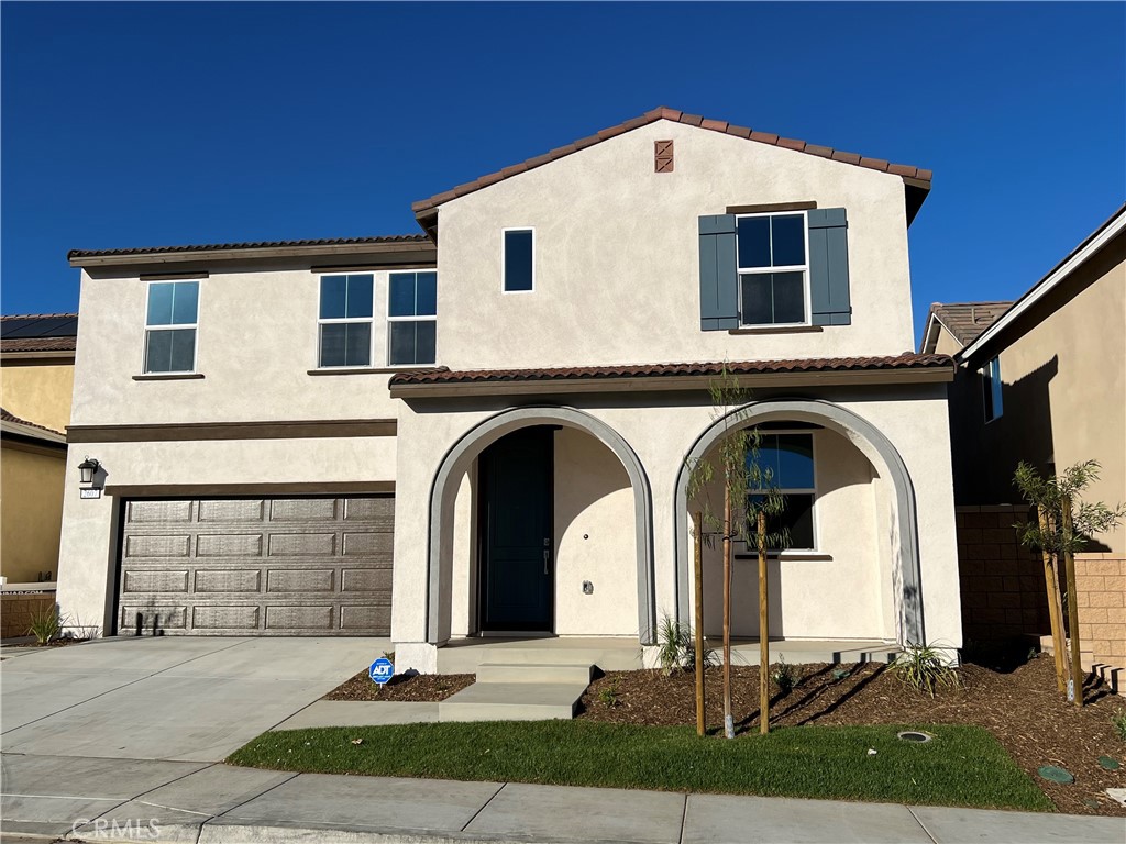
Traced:
POLYGON ((915 518, 914 486, 906 464, 900 452, 875 425, 850 410, 819 398, 780 398, 752 402, 736 407, 715 420, 692 443, 681 463, 677 475, 673 524, 676 526, 677 578, 676 607, 679 618, 689 614, 689 555, 688 555, 688 476, 696 465, 723 437, 732 422, 739 428, 772 422, 777 420, 812 422, 828 428, 847 438, 876 469, 887 477, 895 490, 895 520, 897 532, 897 571, 893 571, 893 582, 899 581, 895 603, 899 609, 897 638, 901 641, 923 643, 924 627, 922 612, 922 571, 919 559, 918 521, 915 518))

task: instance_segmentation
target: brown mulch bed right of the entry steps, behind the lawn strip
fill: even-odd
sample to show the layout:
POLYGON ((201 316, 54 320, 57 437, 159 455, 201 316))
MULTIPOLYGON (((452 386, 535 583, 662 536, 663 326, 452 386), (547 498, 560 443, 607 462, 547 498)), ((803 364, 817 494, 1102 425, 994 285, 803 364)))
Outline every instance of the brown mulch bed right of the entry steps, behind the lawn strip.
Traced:
MULTIPOLYGON (((868 724, 968 724, 989 729, 1060 811, 1074 815, 1126 816, 1126 808, 1106 794, 1126 787, 1126 743, 1110 718, 1126 701, 1100 680, 1089 679, 1087 704, 1080 709, 1056 692, 1049 656, 1039 656, 1011 673, 967 664, 960 686, 941 688, 933 700, 906 689, 886 665, 828 664, 793 666, 798 674, 787 695, 771 686, 771 726, 868 724), (840 680, 833 672, 848 670, 840 680), (1106 771, 1099 756, 1123 767, 1106 771), (1042 765, 1058 765, 1075 776, 1070 785, 1044 780, 1042 765)), ((369 681, 370 682, 370 681, 369 681)), ((723 671, 705 672, 707 724, 723 725, 723 671)), ((610 672, 582 697, 579 718, 615 724, 670 726, 696 722, 696 685, 691 672, 664 676, 659 671, 610 672), (610 694, 610 690, 615 693, 610 694), (606 692, 604 694, 604 692, 606 692), (614 704, 607 699, 614 699, 614 704)), ((736 729, 758 734, 759 670, 732 666, 732 711, 736 729)))

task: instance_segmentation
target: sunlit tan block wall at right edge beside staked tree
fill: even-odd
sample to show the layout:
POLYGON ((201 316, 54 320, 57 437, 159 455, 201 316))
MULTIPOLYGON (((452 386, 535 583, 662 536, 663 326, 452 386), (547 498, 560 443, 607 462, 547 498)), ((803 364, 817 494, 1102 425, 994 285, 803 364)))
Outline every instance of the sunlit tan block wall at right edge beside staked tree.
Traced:
POLYGON ((1126 667, 1126 557, 1076 554, 1075 604, 1081 652, 1094 663, 1126 667))

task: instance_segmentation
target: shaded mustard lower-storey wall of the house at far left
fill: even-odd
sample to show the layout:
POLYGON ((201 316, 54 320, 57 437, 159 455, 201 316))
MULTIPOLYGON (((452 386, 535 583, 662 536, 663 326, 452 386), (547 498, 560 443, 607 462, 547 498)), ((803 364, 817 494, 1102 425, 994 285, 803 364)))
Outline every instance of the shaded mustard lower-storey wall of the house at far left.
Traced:
POLYGON ((41 454, 3 443, 0 455, 0 574, 35 583, 59 564, 65 452, 41 454))

